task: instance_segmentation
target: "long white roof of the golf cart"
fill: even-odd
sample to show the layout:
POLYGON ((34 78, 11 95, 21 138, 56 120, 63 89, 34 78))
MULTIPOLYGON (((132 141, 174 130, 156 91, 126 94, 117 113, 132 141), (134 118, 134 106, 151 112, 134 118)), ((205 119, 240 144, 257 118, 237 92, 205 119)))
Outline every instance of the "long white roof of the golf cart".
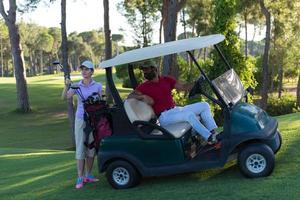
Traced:
POLYGON ((222 42, 225 37, 221 34, 201 36, 163 44, 153 45, 150 47, 134 49, 124 52, 116 57, 105 60, 99 64, 100 68, 108 68, 112 66, 133 63, 150 58, 156 58, 169 54, 175 54, 194 49, 201 49, 222 42))

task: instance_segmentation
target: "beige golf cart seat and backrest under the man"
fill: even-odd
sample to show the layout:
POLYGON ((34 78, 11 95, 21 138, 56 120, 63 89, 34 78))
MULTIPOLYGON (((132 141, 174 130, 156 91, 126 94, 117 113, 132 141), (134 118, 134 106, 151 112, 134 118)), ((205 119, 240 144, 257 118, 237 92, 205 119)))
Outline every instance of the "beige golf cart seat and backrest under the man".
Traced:
MULTIPOLYGON (((151 119, 156 118, 152 107, 137 99, 126 99, 124 102, 124 108, 131 123, 136 121, 149 122, 151 119)), ((191 125, 187 122, 179 122, 176 124, 169 124, 163 128, 166 129, 173 137, 180 138, 191 128, 191 125)), ((153 129, 150 134, 163 135, 162 130, 159 129, 153 129)))

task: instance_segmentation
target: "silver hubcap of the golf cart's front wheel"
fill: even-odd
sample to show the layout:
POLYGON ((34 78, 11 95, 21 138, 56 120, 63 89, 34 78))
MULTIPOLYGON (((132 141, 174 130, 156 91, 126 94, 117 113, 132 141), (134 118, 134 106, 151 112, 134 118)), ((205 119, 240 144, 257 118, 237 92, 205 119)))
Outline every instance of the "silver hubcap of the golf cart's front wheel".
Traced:
POLYGON ((261 154, 252 154, 247 158, 246 165, 252 173, 260 173, 266 168, 267 161, 261 154))

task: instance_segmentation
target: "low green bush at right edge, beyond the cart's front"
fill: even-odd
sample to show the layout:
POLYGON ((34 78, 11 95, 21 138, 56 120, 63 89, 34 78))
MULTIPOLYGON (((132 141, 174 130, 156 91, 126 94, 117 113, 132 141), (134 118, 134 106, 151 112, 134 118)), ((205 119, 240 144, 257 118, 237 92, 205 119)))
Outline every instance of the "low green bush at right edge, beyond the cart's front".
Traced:
POLYGON ((269 97, 267 112, 271 116, 285 115, 299 112, 300 108, 296 106, 296 97, 285 94, 281 98, 269 97))

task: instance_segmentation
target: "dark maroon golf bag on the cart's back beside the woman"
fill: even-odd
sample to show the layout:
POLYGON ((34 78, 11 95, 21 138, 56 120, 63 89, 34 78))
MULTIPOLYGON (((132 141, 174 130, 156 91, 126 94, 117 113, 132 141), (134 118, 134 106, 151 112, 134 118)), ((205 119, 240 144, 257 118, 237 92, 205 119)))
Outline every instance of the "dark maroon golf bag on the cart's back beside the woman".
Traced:
POLYGON ((95 148, 98 152, 101 139, 112 134, 110 126, 110 115, 106 101, 88 97, 83 101, 84 104, 84 121, 86 123, 84 130, 85 133, 85 146, 89 149, 95 148), (89 143, 89 136, 93 133, 94 140, 89 143))

